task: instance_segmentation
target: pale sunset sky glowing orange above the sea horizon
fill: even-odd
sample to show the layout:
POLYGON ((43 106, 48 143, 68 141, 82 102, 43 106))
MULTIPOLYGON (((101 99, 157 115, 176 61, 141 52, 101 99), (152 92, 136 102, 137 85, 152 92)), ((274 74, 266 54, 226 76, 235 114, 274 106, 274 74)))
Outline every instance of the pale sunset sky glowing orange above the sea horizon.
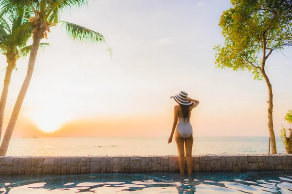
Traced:
MULTIPOLYGON (((230 6, 229 0, 94 0, 63 12, 61 20, 102 33, 107 44, 74 42, 64 28, 52 27, 13 136, 169 136, 176 105, 170 96, 180 91, 200 101, 194 135, 268 136, 266 83, 214 64, 213 48, 224 42, 219 17, 230 6)), ((292 109, 291 57, 292 49, 284 49, 267 61, 276 135, 292 109)), ((5 57, 0 61, 3 80, 5 57)), ((19 59, 13 72, 4 129, 27 64, 19 59)))

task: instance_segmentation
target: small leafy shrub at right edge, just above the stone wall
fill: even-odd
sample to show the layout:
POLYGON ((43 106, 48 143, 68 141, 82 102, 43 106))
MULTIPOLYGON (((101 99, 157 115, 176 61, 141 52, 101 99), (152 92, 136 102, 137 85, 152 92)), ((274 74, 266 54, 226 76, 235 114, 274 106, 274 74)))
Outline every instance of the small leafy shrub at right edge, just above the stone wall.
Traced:
POLYGON ((285 146, 287 154, 292 154, 292 110, 288 111, 284 118, 290 124, 290 128, 284 128, 280 130, 280 138, 285 146), (287 130, 289 131, 289 136, 287 137, 287 130))

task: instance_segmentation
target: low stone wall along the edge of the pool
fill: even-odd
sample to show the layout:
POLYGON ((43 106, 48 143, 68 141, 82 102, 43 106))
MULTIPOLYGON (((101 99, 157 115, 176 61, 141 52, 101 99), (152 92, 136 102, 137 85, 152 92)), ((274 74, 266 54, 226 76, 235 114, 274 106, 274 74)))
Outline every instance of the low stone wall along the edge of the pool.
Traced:
MULTIPOLYGON (((195 171, 292 170, 287 155, 194 156, 195 171)), ((176 156, 0 157, 0 174, 178 172, 176 156)))

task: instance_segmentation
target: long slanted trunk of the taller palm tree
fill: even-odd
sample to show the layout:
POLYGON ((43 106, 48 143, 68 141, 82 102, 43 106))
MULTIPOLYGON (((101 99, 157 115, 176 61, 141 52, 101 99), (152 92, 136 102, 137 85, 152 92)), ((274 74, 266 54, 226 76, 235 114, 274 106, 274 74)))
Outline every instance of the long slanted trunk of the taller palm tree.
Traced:
POLYGON ((32 46, 32 50, 30 53, 29 61, 28 61, 27 74, 26 74, 26 77, 25 77, 23 84, 21 86, 20 92, 18 94, 10 121, 9 121, 7 129, 5 131, 5 135, 4 135, 2 144, 0 146, 0 156, 5 156, 7 153, 9 142, 10 142, 13 130, 15 128, 15 124, 16 124, 18 114, 19 114, 20 109, 21 109, 22 102, 24 100, 24 97, 25 97, 26 92, 28 90, 28 86, 29 86, 30 81, 32 79, 32 75, 33 75, 33 71, 34 71, 34 67, 35 67, 35 63, 36 63, 36 58, 37 58, 37 50, 39 47, 39 42, 42 39, 43 32, 44 32, 43 28, 36 27, 35 29, 36 29, 36 31, 34 33, 33 46, 32 46))

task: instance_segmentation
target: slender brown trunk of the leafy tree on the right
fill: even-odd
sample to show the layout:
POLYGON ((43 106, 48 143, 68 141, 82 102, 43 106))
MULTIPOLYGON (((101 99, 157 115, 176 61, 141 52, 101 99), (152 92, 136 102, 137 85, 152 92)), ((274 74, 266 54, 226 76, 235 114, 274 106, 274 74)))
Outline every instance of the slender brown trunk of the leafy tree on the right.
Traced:
POLYGON ((267 83, 268 86, 268 92, 269 92, 269 107, 268 107, 268 128, 269 128, 269 133, 270 133, 270 138, 271 138, 271 146, 272 146, 272 154, 277 153, 277 148, 276 148, 276 138, 275 138, 275 133, 274 133, 274 124, 273 124, 273 90, 272 90, 272 84, 265 72, 264 69, 261 70, 261 73, 267 83))

